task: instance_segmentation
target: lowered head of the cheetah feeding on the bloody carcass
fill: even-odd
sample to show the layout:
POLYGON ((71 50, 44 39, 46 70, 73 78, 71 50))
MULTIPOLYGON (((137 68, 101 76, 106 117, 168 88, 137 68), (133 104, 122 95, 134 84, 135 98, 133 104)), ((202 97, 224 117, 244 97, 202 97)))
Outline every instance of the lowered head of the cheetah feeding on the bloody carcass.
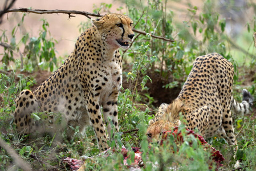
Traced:
POLYGON ((172 128, 180 126, 180 124, 180 120, 176 120, 174 123, 166 120, 158 120, 155 122, 153 122, 153 120, 150 120, 147 129, 148 143, 151 143, 152 141, 160 143, 162 132, 170 131, 172 130, 172 128))

